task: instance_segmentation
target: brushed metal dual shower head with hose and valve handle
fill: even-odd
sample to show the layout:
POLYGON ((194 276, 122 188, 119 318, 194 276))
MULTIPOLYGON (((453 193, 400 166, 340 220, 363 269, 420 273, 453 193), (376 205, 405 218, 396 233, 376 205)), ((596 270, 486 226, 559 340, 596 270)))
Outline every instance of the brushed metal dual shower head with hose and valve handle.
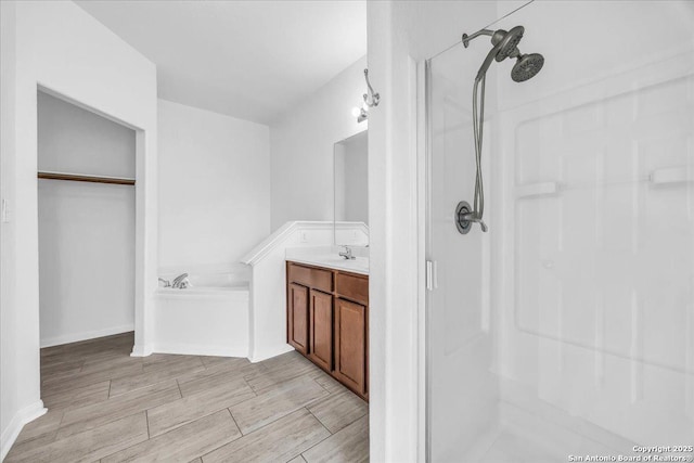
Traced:
POLYGON ((463 44, 465 48, 470 46, 471 40, 479 36, 490 36, 493 48, 489 51, 487 57, 479 67, 477 77, 475 77, 475 83, 473 85, 473 134, 475 139, 476 165, 475 200, 472 208, 470 203, 466 201, 461 201, 455 207, 455 227, 461 234, 468 233, 472 229, 472 224, 475 222, 479 223, 483 232, 488 230, 487 224, 483 220, 485 213, 485 189, 481 178, 481 149, 485 126, 485 83, 487 79, 487 70, 494 60, 497 62, 502 62, 507 57, 515 57, 516 64, 511 69, 511 78, 516 82, 524 82, 535 77, 544 65, 544 57, 539 53, 520 54, 518 43, 520 42, 524 33, 525 28, 523 26, 516 26, 509 31, 504 29, 481 29, 472 36, 463 34, 463 44))

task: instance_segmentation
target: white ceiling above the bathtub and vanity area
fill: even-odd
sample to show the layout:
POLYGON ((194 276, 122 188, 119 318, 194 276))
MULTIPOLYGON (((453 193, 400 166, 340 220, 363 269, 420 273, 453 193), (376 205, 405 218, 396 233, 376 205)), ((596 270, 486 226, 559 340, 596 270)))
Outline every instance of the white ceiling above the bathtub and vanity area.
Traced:
POLYGON ((157 65, 159 98, 261 124, 367 54, 365 1, 76 3, 157 65))

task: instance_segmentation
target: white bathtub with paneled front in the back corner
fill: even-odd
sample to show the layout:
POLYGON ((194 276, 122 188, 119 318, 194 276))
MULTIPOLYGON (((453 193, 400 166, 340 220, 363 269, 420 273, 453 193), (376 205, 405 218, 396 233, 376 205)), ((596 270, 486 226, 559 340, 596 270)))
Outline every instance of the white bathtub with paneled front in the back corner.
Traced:
MULTIPOLYGON (((243 269, 242 269, 243 270, 243 269)), ((154 351, 248 357, 248 273, 191 273, 185 290, 159 287, 154 351)), ((176 274, 164 274, 172 280, 176 274)))

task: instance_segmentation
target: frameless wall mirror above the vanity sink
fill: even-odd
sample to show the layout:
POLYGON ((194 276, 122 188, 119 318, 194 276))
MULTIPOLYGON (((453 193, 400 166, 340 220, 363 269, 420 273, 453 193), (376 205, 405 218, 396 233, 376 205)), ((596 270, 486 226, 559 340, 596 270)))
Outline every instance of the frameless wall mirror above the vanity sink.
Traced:
MULTIPOLYGON (((334 146, 334 229, 335 244, 340 243, 338 222, 369 224, 369 137, 367 130, 334 146)), ((363 243, 368 244, 368 243, 363 243)))

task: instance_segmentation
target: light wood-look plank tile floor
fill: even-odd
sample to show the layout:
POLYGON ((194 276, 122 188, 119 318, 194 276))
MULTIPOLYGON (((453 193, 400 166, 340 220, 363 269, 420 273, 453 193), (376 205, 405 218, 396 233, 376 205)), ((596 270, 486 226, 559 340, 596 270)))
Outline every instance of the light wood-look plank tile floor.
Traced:
POLYGON ((368 462, 369 408, 297 352, 130 357, 133 334, 41 349, 48 413, 5 462, 368 462))

